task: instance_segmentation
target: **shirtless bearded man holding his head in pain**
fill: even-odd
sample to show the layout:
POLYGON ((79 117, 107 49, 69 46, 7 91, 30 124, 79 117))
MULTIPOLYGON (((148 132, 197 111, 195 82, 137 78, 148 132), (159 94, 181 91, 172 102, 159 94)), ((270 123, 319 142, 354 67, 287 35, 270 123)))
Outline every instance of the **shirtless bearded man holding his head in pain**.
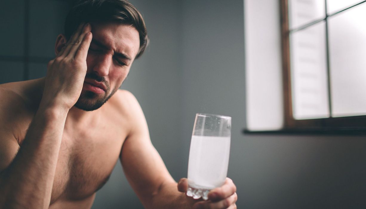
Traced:
POLYGON ((0 85, 0 208, 90 208, 118 157, 146 208, 236 208, 230 179, 194 200, 150 142, 135 97, 119 90, 148 43, 125 0, 72 8, 45 78, 0 85))

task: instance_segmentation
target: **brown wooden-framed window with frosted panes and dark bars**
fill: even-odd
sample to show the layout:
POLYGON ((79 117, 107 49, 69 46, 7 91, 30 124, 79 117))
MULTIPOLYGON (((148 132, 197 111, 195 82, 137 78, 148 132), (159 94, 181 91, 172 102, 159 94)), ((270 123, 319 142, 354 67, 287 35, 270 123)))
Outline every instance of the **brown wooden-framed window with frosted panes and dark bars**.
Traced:
POLYGON ((284 128, 366 128, 366 1, 281 0, 284 128))

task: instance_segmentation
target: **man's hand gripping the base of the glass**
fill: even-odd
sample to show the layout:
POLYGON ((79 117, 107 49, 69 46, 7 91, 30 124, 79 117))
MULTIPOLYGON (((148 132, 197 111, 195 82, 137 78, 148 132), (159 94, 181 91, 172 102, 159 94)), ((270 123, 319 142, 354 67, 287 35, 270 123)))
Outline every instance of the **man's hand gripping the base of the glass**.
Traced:
MULTIPOLYGON (((178 190, 187 192, 188 179, 182 178, 178 182, 178 190)), ((231 179, 226 178, 223 186, 215 188, 208 194, 207 201, 198 201, 193 205, 194 209, 236 209, 236 186, 231 179)))

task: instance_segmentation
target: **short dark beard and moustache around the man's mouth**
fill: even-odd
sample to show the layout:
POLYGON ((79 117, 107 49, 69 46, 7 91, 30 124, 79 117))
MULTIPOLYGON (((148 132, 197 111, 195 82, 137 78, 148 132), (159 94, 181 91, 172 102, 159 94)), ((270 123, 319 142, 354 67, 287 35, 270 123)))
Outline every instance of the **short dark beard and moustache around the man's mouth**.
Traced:
POLYGON ((117 89, 113 89, 112 93, 108 95, 111 88, 108 82, 105 80, 104 77, 100 77, 93 73, 86 74, 85 78, 91 78, 98 82, 103 82, 104 85, 107 87, 105 91, 104 97, 100 97, 99 94, 96 94, 94 92, 85 91, 80 94, 80 97, 76 104, 74 105, 78 109, 82 109, 84 111, 94 111, 96 109, 99 109, 102 107, 102 105, 109 100, 113 96, 114 93, 116 93, 117 89))

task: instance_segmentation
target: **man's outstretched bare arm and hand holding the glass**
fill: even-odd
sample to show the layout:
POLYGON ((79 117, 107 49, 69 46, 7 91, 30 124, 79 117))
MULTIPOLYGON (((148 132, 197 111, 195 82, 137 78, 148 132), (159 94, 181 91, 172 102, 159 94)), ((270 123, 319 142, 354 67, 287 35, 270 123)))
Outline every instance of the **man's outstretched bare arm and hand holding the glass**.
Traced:
POLYGON ((127 93, 124 99, 129 100, 131 131, 123 144, 120 159, 128 182, 145 208, 236 208, 236 187, 229 179, 224 186, 210 192, 209 201, 187 197, 187 179, 181 179, 178 185, 169 174, 150 141, 137 100, 131 93, 127 93))

